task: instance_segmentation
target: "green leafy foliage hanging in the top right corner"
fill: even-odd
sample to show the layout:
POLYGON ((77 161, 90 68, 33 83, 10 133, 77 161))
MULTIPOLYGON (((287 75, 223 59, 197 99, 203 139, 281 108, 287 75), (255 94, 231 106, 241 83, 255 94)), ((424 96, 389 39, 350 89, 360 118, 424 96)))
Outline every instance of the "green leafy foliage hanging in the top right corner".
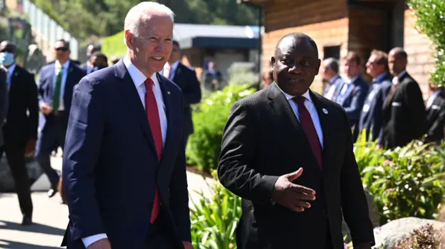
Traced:
POLYGON ((409 5, 416 15, 417 28, 428 36, 437 51, 431 80, 437 85, 445 86, 445 1, 410 0, 409 5))

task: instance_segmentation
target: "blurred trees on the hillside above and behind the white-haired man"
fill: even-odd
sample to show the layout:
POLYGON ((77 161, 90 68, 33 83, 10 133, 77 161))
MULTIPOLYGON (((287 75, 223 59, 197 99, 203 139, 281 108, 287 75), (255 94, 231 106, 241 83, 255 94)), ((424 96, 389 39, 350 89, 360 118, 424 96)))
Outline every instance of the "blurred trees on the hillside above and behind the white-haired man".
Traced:
MULTIPOLYGON (((140 0, 31 0, 74 37, 86 40, 122 31, 128 10, 140 0)), ((187 24, 255 25, 254 8, 234 0, 158 0, 176 13, 175 22, 187 24)))

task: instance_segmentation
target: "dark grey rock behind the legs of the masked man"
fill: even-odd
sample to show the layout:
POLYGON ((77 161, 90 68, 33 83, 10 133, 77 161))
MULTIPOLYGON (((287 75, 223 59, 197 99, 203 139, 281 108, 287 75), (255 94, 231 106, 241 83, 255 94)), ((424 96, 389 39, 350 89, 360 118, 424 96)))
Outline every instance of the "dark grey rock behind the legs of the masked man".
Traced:
MULTIPOLYGON (((28 171, 28 177, 31 184, 42 175, 40 165, 33 158, 26 159, 26 170, 28 171)), ((0 193, 5 192, 15 192, 15 184, 13 175, 8 166, 8 160, 6 160, 6 155, 3 155, 0 161, 0 193)))

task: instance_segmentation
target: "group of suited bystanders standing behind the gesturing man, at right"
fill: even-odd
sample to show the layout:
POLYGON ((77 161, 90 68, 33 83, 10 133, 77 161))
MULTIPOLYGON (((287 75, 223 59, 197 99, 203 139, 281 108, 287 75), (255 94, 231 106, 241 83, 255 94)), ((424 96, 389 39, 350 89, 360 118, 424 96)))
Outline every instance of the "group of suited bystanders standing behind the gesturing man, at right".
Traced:
MULTIPOLYGON (((362 77, 362 58, 353 51, 343 58, 344 76, 335 58, 323 60, 320 73, 323 96, 343 106, 353 138, 366 130, 366 139, 379 147, 405 146, 413 139, 440 142, 444 139, 445 92, 431 81, 430 96, 423 101, 419 84, 407 72, 407 53, 396 47, 389 53, 373 50, 366 62, 369 85, 362 77)), ((263 75, 263 85, 273 83, 271 71, 263 75)))

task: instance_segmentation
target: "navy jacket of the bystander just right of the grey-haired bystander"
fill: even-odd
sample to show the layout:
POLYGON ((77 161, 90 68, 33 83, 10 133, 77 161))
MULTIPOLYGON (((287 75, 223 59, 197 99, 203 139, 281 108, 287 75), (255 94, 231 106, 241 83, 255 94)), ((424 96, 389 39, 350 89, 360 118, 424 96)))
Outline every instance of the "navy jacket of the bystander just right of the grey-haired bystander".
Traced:
POLYGON ((344 94, 344 98, 340 100, 338 96, 345 84, 346 83, 343 82, 341 86, 339 86, 337 94, 335 94, 337 96, 336 102, 342 105, 346 111, 350 127, 354 126, 355 130, 358 130, 360 113, 362 112, 363 103, 368 94, 369 85, 364 81, 362 76, 358 76, 352 83, 353 87, 349 87, 348 91, 344 94))

